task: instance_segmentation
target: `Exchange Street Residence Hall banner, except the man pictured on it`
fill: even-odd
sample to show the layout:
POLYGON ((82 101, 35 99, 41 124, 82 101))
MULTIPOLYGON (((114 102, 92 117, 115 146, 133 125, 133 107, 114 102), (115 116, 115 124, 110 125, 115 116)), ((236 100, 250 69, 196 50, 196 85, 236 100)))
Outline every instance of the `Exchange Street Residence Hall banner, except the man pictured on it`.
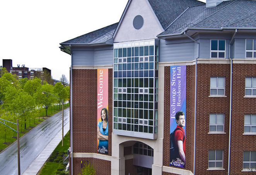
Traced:
MULTIPOLYGON (((170 134, 176 129, 177 123, 175 114, 183 111, 186 119, 186 66, 171 66, 171 86, 170 86, 170 134)), ((183 127, 186 135, 186 125, 183 127)), ((171 137, 171 135, 170 135, 171 137)), ((171 138, 170 138, 171 140, 171 138)), ((171 142, 170 142, 171 145, 171 142)), ((179 157, 179 155, 178 155, 179 157)), ((170 165, 175 167, 184 167, 185 162, 180 158, 171 158, 170 165)))

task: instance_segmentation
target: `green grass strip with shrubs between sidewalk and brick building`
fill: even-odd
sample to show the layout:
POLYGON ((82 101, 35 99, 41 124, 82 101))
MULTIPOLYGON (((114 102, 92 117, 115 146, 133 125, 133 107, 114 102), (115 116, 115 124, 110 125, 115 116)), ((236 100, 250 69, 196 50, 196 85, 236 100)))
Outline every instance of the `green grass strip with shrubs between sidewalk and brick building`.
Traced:
MULTIPOLYGON (((70 147, 70 131, 63 138, 63 146, 61 142, 55 148, 51 156, 48 158, 44 166, 39 171, 38 175, 66 175, 69 172, 65 172, 65 167, 67 164, 63 164, 63 160, 67 157, 67 150, 70 147), (62 157, 62 159, 58 159, 62 157)), ((66 160, 68 161, 68 160, 66 160)))

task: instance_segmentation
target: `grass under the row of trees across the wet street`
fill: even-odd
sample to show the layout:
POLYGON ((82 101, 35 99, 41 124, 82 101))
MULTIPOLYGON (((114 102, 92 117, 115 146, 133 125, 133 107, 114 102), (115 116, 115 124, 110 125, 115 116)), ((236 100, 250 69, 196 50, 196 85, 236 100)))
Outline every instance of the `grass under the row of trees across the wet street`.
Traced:
MULTIPOLYGON (((64 104, 64 109, 68 108, 69 104, 64 104)), ((30 119, 27 120, 27 127, 26 130, 24 129, 24 123, 19 123, 19 133, 20 137, 26 134, 28 131, 30 131, 32 128, 43 122, 44 120, 48 119, 49 117, 53 116, 54 114, 60 112, 61 109, 59 109, 59 105, 55 105, 48 108, 47 116, 46 112, 40 114, 39 118, 30 119)), ((15 123, 15 122, 14 122, 15 123)), ((14 130, 17 130, 17 126, 14 124, 8 124, 11 128, 14 128, 14 130)), ((5 125, 2 125, 0 123, 0 127, 3 128, 3 131, 0 132, 0 152, 2 152, 5 148, 7 148, 9 145, 14 143, 14 141, 17 140, 17 133, 10 128, 8 128, 5 125)))

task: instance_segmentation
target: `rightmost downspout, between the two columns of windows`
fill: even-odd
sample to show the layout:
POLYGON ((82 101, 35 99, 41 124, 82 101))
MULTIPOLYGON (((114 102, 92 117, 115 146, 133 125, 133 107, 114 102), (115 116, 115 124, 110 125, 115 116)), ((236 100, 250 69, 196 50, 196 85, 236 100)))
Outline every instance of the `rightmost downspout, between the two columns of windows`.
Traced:
POLYGON ((229 102, 229 162, 228 175, 230 175, 230 154, 231 154, 231 118, 232 118, 232 81, 233 81, 233 60, 231 58, 231 44, 236 36, 237 29, 229 43, 229 59, 230 59, 230 102, 229 102))

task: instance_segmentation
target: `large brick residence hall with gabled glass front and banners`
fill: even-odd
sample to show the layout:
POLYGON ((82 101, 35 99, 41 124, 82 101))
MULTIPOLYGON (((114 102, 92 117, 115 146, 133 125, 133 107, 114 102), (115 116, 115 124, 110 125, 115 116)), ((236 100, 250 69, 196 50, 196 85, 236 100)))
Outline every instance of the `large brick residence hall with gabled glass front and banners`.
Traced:
POLYGON ((70 174, 255 173, 256 1, 129 0, 117 24, 60 45, 70 174), (185 161, 170 153, 179 110, 185 161))

